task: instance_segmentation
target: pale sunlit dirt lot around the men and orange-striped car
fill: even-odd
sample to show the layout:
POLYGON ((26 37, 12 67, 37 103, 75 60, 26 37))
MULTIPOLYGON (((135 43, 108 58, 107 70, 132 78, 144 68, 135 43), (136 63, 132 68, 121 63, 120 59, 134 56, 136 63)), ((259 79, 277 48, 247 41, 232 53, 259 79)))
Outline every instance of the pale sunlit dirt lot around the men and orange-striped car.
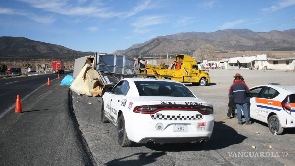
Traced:
MULTIPOLYGON (((228 69, 215 69, 209 71, 211 78, 211 84, 206 87, 192 86, 185 83, 189 89, 200 99, 211 102, 214 108, 215 122, 224 122, 225 125, 231 126, 239 134, 245 135, 248 139, 244 143, 248 146, 255 146, 259 148, 261 152, 269 151, 269 145, 271 145, 276 151, 287 151, 294 156, 293 146, 295 143, 295 128, 285 129, 283 135, 269 134, 269 129, 266 123, 259 121, 253 121, 253 125, 239 126, 237 119, 223 120, 228 109, 228 91, 232 84, 235 73, 240 73, 245 83, 249 88, 256 85, 268 84, 268 83, 280 83, 286 86, 295 86, 295 73, 275 71, 275 70, 228 70, 228 69), (259 132, 260 135, 254 135, 255 132, 259 132)), ((245 121, 245 120, 244 120, 245 121)), ((290 165, 294 160, 288 158, 277 158, 280 162, 290 165), (291 160, 290 160, 291 159, 291 160), (292 161, 293 160, 293 161, 292 161)))

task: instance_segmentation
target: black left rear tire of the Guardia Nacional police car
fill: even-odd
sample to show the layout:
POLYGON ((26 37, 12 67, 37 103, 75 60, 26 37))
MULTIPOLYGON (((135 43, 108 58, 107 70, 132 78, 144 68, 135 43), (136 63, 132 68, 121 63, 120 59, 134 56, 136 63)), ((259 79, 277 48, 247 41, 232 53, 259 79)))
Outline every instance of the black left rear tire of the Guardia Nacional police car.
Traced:
POLYGON ((126 133, 126 128, 125 128, 125 119, 124 115, 121 114, 118 118, 118 143, 121 147, 130 147, 132 141, 128 139, 127 133, 126 133))

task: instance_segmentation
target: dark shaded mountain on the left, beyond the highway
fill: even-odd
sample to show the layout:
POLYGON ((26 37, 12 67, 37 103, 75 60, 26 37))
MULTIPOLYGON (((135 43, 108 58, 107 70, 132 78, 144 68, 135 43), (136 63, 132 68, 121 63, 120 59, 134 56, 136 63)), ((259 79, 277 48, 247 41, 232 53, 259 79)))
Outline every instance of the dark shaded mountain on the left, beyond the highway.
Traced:
POLYGON ((61 45, 44 43, 23 37, 0 37, 0 57, 77 57, 94 55, 93 52, 80 52, 61 45))

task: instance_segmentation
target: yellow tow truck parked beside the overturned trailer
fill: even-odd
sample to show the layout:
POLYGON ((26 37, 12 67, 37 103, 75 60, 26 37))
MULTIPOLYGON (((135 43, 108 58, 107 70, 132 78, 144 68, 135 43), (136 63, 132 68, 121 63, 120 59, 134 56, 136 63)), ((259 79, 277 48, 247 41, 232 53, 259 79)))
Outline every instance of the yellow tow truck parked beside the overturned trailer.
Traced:
MULTIPOLYGON (((142 69, 140 71, 140 73, 143 73, 142 69)), ((176 56, 176 61, 172 63, 170 69, 165 69, 163 64, 160 65, 160 67, 153 65, 145 67, 145 74, 150 75, 149 77, 171 79, 178 82, 192 83, 193 85, 200 86, 206 86, 210 83, 208 72, 209 71, 201 71, 198 68, 196 61, 190 56, 184 54, 176 56), (168 75, 170 77, 162 77, 164 75, 168 75)))

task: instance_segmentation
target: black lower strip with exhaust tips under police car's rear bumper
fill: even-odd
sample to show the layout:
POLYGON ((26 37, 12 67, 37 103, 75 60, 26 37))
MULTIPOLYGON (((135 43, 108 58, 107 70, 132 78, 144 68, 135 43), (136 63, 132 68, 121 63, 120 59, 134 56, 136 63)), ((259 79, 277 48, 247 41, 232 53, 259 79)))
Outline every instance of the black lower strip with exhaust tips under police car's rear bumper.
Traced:
POLYGON ((190 143, 190 142, 207 142, 209 137, 149 137, 143 138, 138 143, 140 144, 176 144, 176 143, 190 143), (203 141, 202 141, 203 140, 203 141))

